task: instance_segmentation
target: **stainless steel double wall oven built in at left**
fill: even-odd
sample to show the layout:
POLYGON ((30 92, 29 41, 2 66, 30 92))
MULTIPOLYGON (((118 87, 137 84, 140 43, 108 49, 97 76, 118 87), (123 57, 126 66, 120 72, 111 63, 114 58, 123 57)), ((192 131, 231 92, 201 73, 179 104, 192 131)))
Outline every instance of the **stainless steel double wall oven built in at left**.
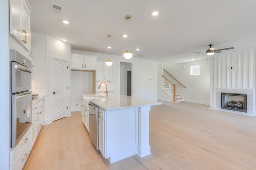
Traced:
POLYGON ((31 61, 10 50, 11 59, 11 147, 14 148, 31 126, 31 61))

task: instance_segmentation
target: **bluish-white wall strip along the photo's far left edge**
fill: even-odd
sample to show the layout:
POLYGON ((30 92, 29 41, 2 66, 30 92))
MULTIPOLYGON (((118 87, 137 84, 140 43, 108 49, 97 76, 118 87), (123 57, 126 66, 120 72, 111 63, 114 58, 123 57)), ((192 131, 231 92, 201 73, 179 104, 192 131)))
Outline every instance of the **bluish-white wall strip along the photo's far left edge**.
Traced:
POLYGON ((0 1, 0 51, 1 51, 1 119, 0 119, 0 169, 9 169, 10 164, 10 57, 9 57, 9 14, 8 14, 8 0, 0 1))

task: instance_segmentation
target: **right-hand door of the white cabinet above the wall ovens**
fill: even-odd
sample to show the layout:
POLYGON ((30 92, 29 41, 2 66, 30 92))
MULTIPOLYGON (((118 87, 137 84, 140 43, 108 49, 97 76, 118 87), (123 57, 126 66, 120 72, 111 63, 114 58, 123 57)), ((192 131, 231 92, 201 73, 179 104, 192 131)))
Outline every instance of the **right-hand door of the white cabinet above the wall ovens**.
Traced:
POLYGON ((22 45, 30 51, 30 11, 25 2, 22 0, 21 3, 21 43, 22 45))

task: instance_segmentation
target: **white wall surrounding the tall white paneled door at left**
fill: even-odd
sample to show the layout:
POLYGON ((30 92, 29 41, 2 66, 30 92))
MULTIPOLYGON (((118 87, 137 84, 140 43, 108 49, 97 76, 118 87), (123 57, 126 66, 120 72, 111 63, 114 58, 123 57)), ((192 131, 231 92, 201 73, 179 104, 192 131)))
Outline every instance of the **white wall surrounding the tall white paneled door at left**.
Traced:
MULTIPOLYGON (((45 121, 44 124, 52 122, 51 95, 50 92, 50 56, 54 55, 68 60, 70 70, 71 46, 54 37, 42 33, 31 33, 31 51, 35 58, 35 66, 32 72, 32 92, 46 95, 45 102, 45 121), (44 86, 36 89, 35 86, 44 86)), ((68 86, 70 87, 70 71, 68 72, 68 86)), ((68 116, 70 111, 70 88, 68 91, 68 116)))

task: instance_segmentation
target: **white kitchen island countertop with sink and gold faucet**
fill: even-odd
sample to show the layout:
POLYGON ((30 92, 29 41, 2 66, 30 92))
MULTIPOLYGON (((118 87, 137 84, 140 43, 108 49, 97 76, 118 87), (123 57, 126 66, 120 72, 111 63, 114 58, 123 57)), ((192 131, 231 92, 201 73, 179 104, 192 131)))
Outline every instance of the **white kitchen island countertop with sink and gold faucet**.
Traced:
MULTIPOLYGON (((92 96, 103 96, 105 97, 105 93, 97 93, 97 94, 80 94, 80 96, 92 97, 92 96)), ((134 98, 131 96, 125 96, 116 93, 109 93, 108 98, 101 99, 90 99, 90 102, 96 104, 100 108, 104 110, 116 110, 116 109, 125 109, 132 107, 142 107, 142 106, 154 106, 160 105, 161 102, 146 100, 142 98, 134 98)))

